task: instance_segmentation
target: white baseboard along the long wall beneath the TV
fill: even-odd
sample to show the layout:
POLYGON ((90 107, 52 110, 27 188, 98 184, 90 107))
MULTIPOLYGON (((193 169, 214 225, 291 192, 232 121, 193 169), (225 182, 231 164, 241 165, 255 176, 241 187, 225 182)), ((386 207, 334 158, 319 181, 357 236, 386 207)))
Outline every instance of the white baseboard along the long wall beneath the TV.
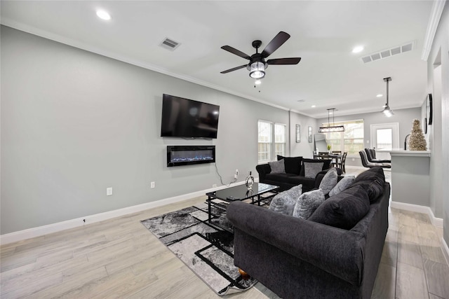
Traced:
MULTIPOLYGON (((255 181, 258 181, 255 180, 255 181)), ((244 181, 233 183, 232 186, 238 186, 245 183, 244 181)), ((227 188, 228 186, 220 186, 217 188, 210 188, 206 190, 200 190, 193 193, 184 195, 178 195, 174 197, 165 198, 163 200, 156 200, 155 202, 146 202, 145 204, 138 204, 132 207, 125 207, 122 209, 116 209, 113 211, 105 211, 104 213, 93 214, 80 218, 75 218, 58 223, 51 223, 48 225, 39 226, 37 228, 29 228, 27 230, 20 230, 18 232, 11 232, 5 235, 0 235, 0 245, 9 244, 13 242, 22 241, 24 239, 30 239, 34 237, 40 237, 42 235, 48 235, 52 232, 60 232, 61 230, 68 230, 69 228, 78 228, 83 225, 95 223, 99 221, 105 221, 110 218, 115 218, 127 214, 133 214, 138 211, 145 211, 146 209, 153 209, 155 207, 161 207, 166 204, 172 204, 175 202, 182 202, 183 200, 189 200, 194 197, 206 195, 208 192, 227 188)))

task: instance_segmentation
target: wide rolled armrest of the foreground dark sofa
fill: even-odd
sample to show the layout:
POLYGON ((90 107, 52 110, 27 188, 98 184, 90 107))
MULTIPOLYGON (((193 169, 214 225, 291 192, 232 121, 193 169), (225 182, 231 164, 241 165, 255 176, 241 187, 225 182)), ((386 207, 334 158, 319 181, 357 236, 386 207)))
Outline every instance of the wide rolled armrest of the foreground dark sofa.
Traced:
POLYGON ((287 216, 240 201, 229 204, 227 216, 236 234, 251 235, 350 284, 361 284, 365 239, 360 232, 287 216))

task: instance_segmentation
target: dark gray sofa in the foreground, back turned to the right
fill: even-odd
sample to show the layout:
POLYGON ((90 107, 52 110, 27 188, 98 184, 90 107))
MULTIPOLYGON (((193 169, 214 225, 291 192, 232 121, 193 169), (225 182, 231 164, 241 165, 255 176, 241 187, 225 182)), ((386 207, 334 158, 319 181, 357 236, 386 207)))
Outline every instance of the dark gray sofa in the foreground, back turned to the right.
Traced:
POLYGON ((370 298, 388 229, 389 194, 382 168, 360 174, 335 199, 360 204, 360 197, 368 204, 355 225, 345 218, 353 216, 350 206, 338 210, 328 202, 321 209, 333 197, 307 220, 232 202, 227 216, 234 225, 234 264, 282 298, 370 298), (337 210, 323 219, 329 208, 337 210))

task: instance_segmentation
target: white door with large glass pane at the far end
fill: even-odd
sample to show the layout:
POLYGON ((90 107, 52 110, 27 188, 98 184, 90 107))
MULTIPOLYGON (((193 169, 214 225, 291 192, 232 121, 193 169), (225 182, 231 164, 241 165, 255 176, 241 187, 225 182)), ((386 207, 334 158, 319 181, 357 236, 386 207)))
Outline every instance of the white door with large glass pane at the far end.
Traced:
POLYGON ((399 123, 382 123, 371 125, 371 147, 376 150, 376 158, 390 160, 393 148, 400 148, 399 144, 399 123))

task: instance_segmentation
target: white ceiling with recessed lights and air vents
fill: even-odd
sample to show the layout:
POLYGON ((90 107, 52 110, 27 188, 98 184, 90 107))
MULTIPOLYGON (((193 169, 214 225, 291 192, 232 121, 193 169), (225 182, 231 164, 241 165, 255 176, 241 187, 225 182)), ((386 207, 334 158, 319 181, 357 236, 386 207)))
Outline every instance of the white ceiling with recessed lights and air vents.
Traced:
MULTIPOLYGON (((391 76, 391 109, 417 107, 427 92, 421 60, 432 1, 1 1, 1 23, 178 78, 316 118, 382 111, 391 76), (102 8, 112 20, 100 20, 102 8), (260 87, 248 61, 221 46, 252 55, 280 31, 290 39, 269 59, 260 87), (164 38, 181 43, 161 48, 164 38), (363 64, 360 57, 415 41, 415 50, 363 64), (351 53, 354 46, 365 47, 351 53), (260 92, 259 92, 260 91, 260 92), (383 97, 376 97, 382 93, 383 97), (304 99, 304 102, 297 102, 304 99), (311 108, 316 105, 315 108, 311 108)), ((169 92, 169 90, 167 91, 169 92)))

